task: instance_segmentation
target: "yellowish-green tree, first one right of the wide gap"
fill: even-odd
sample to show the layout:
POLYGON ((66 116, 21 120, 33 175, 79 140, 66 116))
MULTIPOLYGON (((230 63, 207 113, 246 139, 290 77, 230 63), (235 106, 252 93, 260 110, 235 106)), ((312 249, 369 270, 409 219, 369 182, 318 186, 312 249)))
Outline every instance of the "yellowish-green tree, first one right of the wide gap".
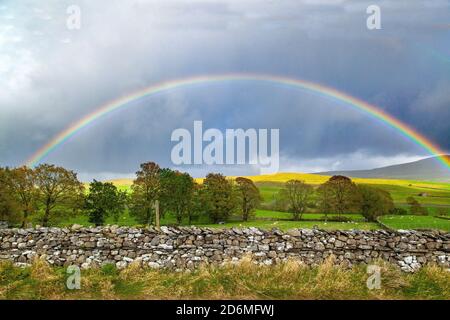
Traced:
POLYGON ((294 220, 300 220, 309 206, 313 187, 302 180, 289 180, 280 192, 281 198, 289 204, 294 220))

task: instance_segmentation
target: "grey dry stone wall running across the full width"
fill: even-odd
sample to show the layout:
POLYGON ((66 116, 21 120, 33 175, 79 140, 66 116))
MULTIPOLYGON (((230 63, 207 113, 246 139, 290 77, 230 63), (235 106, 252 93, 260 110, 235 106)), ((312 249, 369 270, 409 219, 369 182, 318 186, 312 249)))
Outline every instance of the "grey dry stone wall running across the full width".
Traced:
POLYGON ((0 260, 29 264, 36 256, 57 266, 82 268, 133 261, 151 268, 192 269, 251 255, 257 264, 295 259, 316 265, 328 256, 351 266, 384 259, 412 272, 427 263, 450 264, 450 233, 438 231, 324 231, 195 227, 37 228, 0 230, 0 260))

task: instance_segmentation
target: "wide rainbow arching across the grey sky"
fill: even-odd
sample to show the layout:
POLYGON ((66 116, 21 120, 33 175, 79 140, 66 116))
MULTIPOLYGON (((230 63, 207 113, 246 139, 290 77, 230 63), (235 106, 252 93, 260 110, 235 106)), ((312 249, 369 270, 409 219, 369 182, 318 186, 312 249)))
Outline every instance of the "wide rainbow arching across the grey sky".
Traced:
POLYGON ((379 120, 382 123, 396 129, 400 134, 405 136, 407 139, 411 140, 415 144, 421 146, 430 155, 438 156, 439 161, 444 164, 444 166, 450 170, 450 160, 444 156, 445 152, 442 151, 437 145, 428 140, 426 137, 421 135, 419 132, 415 131, 408 125, 404 124, 400 120, 394 118, 388 113, 384 112, 380 108, 371 105, 363 100, 352 97, 344 92, 338 91, 334 88, 324 86, 322 84, 314 83, 311 81, 306 81, 297 78, 289 78, 284 76, 267 75, 267 74, 249 74, 249 73, 231 73, 231 74, 221 74, 221 75, 204 75, 204 76, 194 76, 184 79, 176 79, 170 81, 160 82, 142 90, 136 91, 132 94, 120 97, 116 100, 110 101, 94 112, 84 116, 77 122, 72 123, 66 129, 57 134, 53 139, 51 139, 47 144, 42 146, 37 150, 26 162, 26 165, 33 167, 36 166, 43 158, 48 154, 53 152, 58 146, 61 146, 66 141, 71 139, 77 134, 81 129, 85 128, 89 124, 101 119, 107 114, 116 111, 118 109, 125 108, 130 102, 149 97, 158 93, 162 93, 168 90, 173 90, 183 87, 191 87, 200 84, 211 84, 211 83, 221 83, 229 81, 257 81, 262 83, 285 85, 287 87, 292 87, 296 89, 302 89, 310 91, 319 96, 326 98, 331 98, 337 100, 338 102, 343 102, 348 106, 362 111, 373 119, 379 120))

